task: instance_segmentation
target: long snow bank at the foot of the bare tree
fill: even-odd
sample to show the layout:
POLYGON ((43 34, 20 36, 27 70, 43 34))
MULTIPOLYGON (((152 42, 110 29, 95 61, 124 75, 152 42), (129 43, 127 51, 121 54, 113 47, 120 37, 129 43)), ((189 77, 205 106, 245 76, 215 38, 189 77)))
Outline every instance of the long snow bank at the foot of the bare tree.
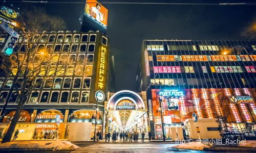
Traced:
POLYGON ((52 148, 53 150, 75 150, 80 147, 69 141, 11 141, 0 144, 0 148, 52 148))

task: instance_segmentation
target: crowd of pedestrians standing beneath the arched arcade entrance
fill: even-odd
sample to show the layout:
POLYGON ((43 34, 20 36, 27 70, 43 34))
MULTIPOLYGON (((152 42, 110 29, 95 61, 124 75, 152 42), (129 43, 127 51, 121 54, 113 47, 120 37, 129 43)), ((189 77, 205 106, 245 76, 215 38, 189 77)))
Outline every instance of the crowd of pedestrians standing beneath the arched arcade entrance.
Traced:
MULTIPOLYGON (((134 131, 134 132, 129 132, 129 131, 121 131, 120 133, 114 131, 112 134, 110 132, 105 133, 105 142, 108 141, 110 142, 110 137, 112 137, 112 142, 115 142, 118 140, 118 137, 120 138, 120 142, 123 141, 128 141, 133 142, 133 141, 138 141, 139 140, 139 132, 134 131)), ((144 137, 145 137, 145 132, 143 131, 141 133, 141 141, 144 142, 144 137)), ((148 132, 148 141, 151 141, 151 131, 148 132)))

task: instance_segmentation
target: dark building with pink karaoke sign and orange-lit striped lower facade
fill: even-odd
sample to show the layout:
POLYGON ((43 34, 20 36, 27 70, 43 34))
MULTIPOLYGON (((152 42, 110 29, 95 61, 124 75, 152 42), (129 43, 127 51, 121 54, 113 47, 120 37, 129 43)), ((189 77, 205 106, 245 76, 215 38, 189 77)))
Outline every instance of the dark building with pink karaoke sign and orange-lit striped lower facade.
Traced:
POLYGON ((162 138, 161 110, 166 138, 193 113, 227 117, 229 132, 255 137, 255 52, 255 41, 144 40, 136 82, 153 136, 162 138))

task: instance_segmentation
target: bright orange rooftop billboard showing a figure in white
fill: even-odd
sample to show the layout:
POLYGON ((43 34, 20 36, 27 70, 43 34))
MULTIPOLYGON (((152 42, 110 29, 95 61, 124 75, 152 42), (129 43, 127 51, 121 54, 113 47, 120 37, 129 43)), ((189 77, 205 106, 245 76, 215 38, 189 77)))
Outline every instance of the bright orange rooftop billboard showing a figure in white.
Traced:
POLYGON ((84 8, 84 15, 93 19, 106 29, 108 22, 108 9, 103 7, 96 0, 87 0, 86 7, 84 8))

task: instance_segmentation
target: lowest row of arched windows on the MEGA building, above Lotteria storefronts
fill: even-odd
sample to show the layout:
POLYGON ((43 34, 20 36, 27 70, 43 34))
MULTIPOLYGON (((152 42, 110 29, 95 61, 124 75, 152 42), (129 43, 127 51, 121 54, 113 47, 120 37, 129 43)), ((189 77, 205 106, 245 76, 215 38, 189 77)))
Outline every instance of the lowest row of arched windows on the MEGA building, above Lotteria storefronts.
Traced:
MULTIPOLYGON (((0 103, 6 102, 6 97, 8 95, 8 91, 2 91, 0 94, 0 103)), ((50 95, 50 91, 42 91, 41 96, 39 96, 38 91, 33 91, 30 95, 28 103, 89 103, 89 91, 82 91, 81 95, 78 91, 52 91, 50 95), (60 94, 61 93, 61 94, 60 94)), ((9 103, 16 103, 18 99, 17 93, 12 92, 9 103)), ((27 97, 25 99, 28 100, 27 97)))

